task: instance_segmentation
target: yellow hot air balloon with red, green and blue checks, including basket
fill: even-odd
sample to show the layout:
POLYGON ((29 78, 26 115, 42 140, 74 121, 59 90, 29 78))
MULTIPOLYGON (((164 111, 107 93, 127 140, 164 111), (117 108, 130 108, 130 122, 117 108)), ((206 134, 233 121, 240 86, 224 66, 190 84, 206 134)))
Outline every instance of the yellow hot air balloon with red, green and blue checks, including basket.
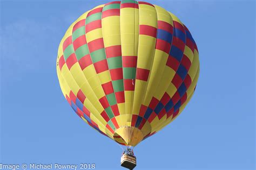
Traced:
POLYGON ((132 169, 130 147, 171 123, 190 101, 198 49, 187 27, 164 8, 114 1, 71 24, 59 44, 57 75, 76 114, 129 148, 122 166, 132 169))

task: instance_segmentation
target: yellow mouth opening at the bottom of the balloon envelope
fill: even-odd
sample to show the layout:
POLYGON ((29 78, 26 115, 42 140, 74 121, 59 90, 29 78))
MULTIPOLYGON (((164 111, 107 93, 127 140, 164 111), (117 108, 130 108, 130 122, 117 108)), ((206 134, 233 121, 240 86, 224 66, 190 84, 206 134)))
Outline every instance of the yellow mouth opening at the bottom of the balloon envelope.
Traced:
POLYGON ((113 139, 125 146, 136 146, 140 141, 142 141, 144 138, 144 134, 142 130, 131 127, 131 126, 123 126, 118 128, 114 134, 113 139))

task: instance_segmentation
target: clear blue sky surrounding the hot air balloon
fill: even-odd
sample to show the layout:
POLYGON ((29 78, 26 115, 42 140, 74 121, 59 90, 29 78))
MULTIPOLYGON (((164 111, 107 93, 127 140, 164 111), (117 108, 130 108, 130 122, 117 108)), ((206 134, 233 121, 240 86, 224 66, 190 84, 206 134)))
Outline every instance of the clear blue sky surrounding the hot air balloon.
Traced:
MULTIPOLYGON (((106 2, 0 1, 0 163, 122 169, 122 149, 65 101, 55 65, 68 26, 106 2)), ((147 2, 188 27, 201 70, 183 113, 136 146, 136 169, 255 169, 255 2, 147 2)))

